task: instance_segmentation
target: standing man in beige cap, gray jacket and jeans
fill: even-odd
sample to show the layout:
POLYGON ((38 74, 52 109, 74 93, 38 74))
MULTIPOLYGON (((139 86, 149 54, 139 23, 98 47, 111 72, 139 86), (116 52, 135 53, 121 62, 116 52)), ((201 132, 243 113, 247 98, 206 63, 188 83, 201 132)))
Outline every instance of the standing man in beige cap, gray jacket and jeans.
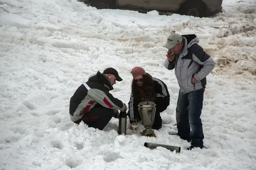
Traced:
POLYGON ((175 69, 180 86, 176 107, 177 135, 191 141, 187 150, 204 147, 204 132, 201 121, 206 77, 215 67, 212 57, 198 45, 195 34, 171 34, 163 46, 168 48, 164 66, 175 69), (191 131, 190 131, 191 127, 191 131))

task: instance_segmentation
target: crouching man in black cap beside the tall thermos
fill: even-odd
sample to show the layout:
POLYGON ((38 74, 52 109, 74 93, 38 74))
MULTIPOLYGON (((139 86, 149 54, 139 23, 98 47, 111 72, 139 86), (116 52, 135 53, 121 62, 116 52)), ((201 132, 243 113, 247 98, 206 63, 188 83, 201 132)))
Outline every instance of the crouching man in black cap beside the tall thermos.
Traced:
POLYGON ((126 111, 126 105, 109 93, 116 81, 122 81, 114 68, 106 68, 90 76, 79 86, 70 99, 70 119, 79 124, 102 130, 112 117, 118 118, 118 111, 126 111))

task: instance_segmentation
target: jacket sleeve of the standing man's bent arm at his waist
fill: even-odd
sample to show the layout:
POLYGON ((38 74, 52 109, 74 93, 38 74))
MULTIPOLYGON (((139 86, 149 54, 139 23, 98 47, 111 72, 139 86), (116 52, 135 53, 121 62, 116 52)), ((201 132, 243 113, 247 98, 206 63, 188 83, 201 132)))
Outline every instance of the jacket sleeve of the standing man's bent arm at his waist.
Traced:
POLYGON ((213 61, 212 57, 204 52, 203 48, 200 45, 195 44, 193 46, 193 60, 203 66, 201 70, 194 75, 194 77, 198 81, 200 81, 204 77, 207 77, 207 75, 213 70, 213 68, 215 67, 215 62, 213 61))

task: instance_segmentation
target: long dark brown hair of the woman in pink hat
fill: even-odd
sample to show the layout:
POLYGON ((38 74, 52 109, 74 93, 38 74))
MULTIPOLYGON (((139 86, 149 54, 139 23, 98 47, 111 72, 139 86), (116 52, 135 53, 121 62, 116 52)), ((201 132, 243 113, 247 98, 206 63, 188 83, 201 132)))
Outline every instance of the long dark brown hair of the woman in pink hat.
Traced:
POLYGON ((151 76, 143 74, 143 85, 140 87, 135 82, 135 79, 131 83, 131 92, 134 97, 134 102, 139 103, 143 101, 154 102, 156 94, 154 91, 154 83, 151 76))

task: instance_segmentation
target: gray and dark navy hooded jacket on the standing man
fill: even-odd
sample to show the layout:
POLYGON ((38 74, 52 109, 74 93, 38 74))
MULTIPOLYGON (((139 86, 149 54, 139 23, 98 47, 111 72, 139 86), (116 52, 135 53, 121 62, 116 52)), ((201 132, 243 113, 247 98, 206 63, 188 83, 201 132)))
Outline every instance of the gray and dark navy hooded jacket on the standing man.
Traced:
POLYGON ((180 92, 186 94, 205 87, 207 84, 206 77, 215 67, 215 62, 198 45, 199 39, 195 34, 182 35, 182 41, 184 42, 183 51, 175 56, 173 62, 166 59, 164 66, 168 70, 175 68, 180 92), (191 82, 193 76, 198 80, 195 84, 191 82))

